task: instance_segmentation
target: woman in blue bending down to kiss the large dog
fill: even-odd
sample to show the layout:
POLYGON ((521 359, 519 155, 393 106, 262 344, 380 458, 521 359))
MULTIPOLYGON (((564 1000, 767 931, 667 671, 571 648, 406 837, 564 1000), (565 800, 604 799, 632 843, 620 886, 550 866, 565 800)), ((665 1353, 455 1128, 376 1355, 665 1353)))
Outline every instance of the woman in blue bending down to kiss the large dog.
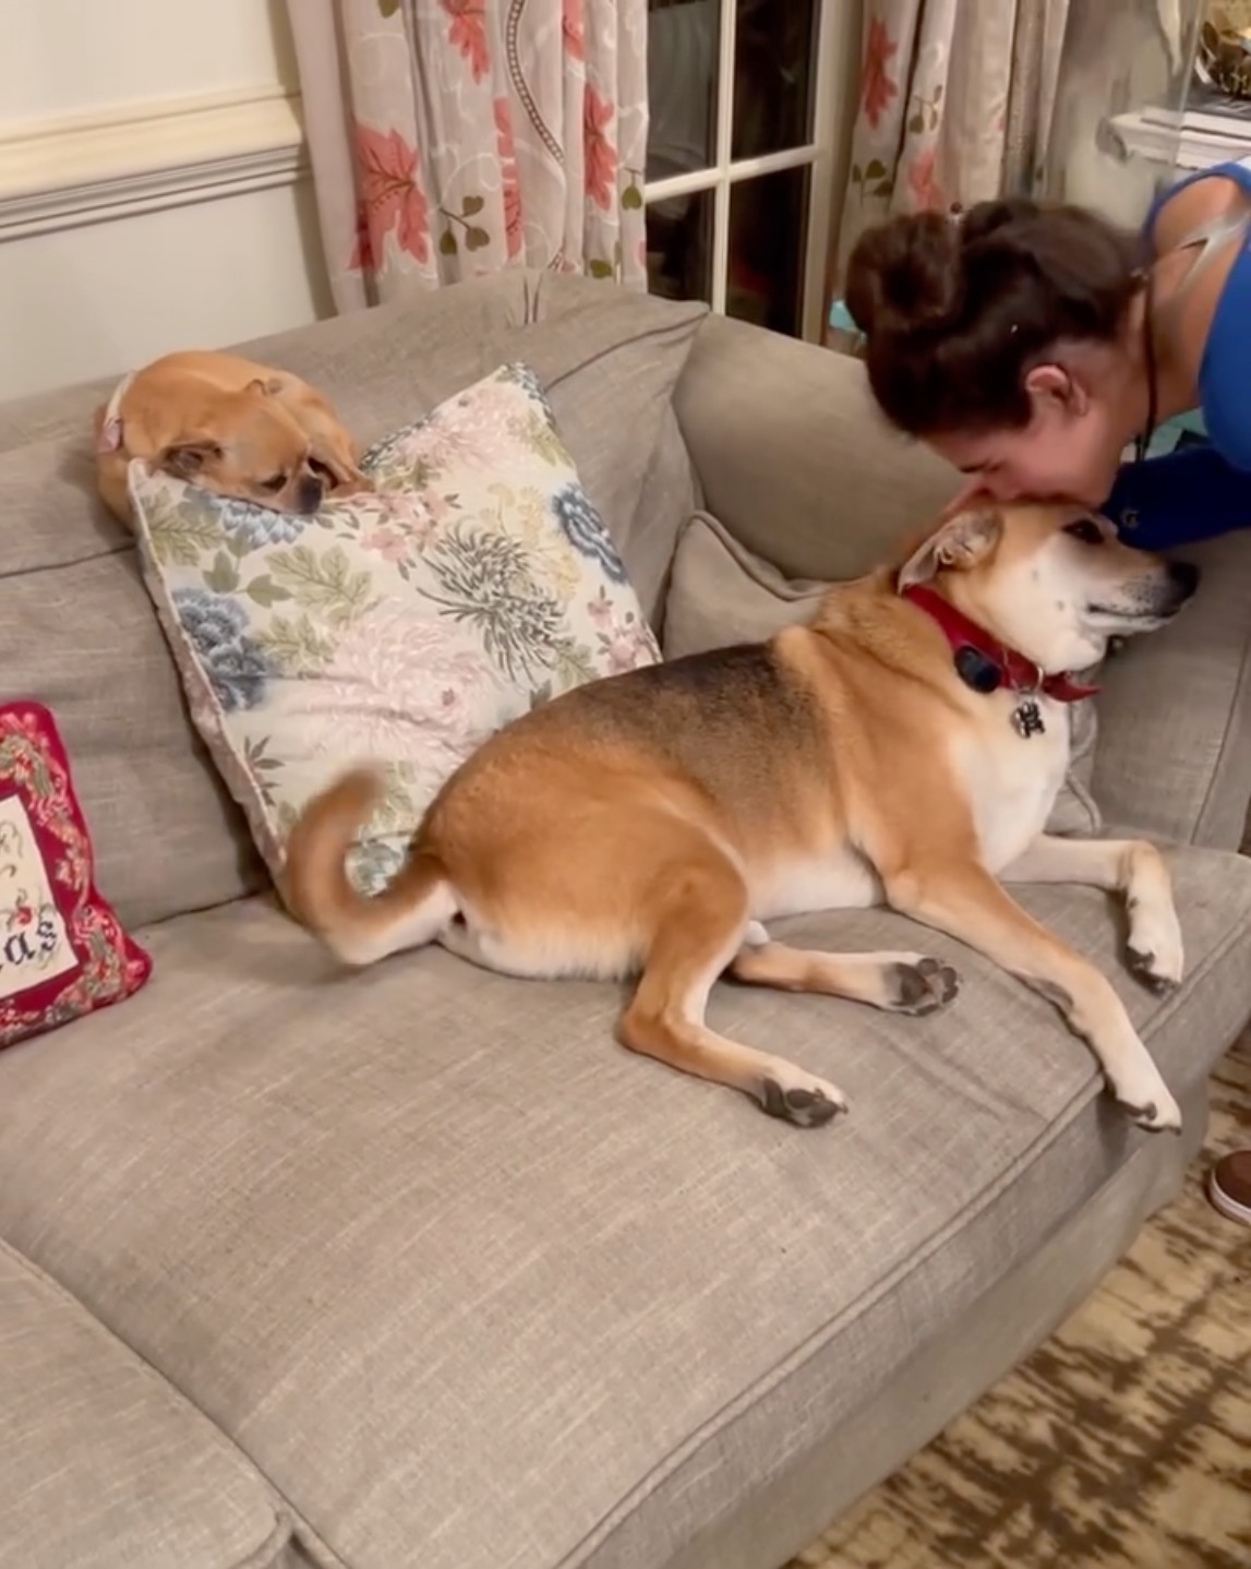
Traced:
MULTIPOLYGON (((886 416, 970 475, 953 507, 1071 497, 1144 549, 1251 529, 1251 160, 1165 191, 1140 237, 1030 201, 892 218, 847 304, 886 416), (1210 446, 1122 466, 1196 408, 1210 446)), ((1251 1149, 1210 1192, 1251 1224, 1251 1149)))

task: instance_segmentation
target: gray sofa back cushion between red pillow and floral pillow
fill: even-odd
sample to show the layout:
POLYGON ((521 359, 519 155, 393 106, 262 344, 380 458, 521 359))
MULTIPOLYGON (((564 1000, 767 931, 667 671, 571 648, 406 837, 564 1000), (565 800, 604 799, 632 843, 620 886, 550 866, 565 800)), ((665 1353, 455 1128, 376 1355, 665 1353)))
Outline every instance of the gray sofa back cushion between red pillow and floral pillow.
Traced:
POLYGON ((130 537, 88 499, 89 439, 0 457, 3 695, 56 715, 125 923, 265 883, 243 819, 191 730, 130 537))

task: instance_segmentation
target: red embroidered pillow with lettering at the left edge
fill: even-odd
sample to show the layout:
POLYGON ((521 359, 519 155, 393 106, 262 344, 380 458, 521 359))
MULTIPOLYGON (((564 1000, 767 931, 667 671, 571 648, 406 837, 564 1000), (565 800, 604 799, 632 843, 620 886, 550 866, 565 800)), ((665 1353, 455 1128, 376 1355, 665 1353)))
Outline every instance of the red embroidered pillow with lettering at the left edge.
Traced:
POLYGON ((96 891, 52 714, 0 704, 0 1047, 138 992, 152 960, 96 891))

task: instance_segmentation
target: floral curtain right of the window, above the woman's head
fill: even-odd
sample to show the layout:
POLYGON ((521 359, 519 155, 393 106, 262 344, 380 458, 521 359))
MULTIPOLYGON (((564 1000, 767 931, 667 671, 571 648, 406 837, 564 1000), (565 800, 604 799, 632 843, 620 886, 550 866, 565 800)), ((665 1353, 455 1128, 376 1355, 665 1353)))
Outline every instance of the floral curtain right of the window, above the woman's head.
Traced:
POLYGON ((1022 190, 1041 160, 1069 0, 868 0, 837 237, 1022 190))

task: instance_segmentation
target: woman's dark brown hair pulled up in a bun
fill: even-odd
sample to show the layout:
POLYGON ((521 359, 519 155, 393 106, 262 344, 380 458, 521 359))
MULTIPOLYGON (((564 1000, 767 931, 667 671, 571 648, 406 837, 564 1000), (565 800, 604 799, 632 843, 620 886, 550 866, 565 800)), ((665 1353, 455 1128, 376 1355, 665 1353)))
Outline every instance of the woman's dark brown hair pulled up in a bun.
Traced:
POLYGON ((1033 201, 867 229, 847 308, 878 403, 912 436, 1027 425, 1025 375, 1061 339, 1119 337, 1144 260, 1143 242, 1105 218, 1033 201))

